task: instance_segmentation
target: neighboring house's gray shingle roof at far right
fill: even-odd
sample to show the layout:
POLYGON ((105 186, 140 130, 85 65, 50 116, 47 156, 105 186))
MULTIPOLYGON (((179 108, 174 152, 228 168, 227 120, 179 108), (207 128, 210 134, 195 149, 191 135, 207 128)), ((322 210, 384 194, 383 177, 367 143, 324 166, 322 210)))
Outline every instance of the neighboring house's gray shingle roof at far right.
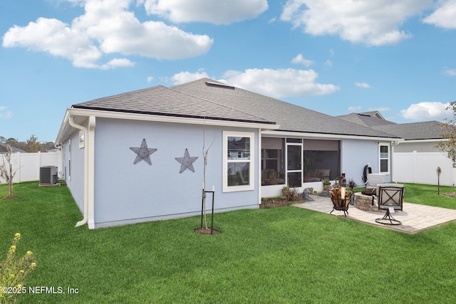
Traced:
POLYGON ((442 139, 443 132, 441 122, 435 120, 429 122, 411 122, 394 125, 378 125, 374 128, 402 137, 404 140, 434 140, 442 139))

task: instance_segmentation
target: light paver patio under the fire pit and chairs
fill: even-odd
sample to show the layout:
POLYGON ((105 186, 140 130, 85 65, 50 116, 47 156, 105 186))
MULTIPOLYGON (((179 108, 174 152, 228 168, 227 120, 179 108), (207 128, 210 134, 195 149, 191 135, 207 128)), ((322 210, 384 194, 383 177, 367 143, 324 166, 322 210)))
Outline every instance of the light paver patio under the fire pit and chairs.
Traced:
MULTIPOLYGON (((314 199, 314 201, 306 201, 301 204, 294 204, 293 206, 323 212, 326 214, 329 214, 333 210, 333 203, 328 197, 311 195, 311 198, 314 199)), ((331 215, 344 217, 343 211, 337 210, 334 210, 331 215)), ((396 211, 392 214, 393 217, 402 224, 384 225, 375 222, 375 219, 382 218, 383 215, 385 215, 385 211, 363 211, 356 209, 353 205, 350 205, 348 208, 347 219, 363 221, 364 223, 402 231, 408 234, 416 234, 417 232, 425 229, 430 229, 450 221, 456 221, 456 210, 410 204, 406 202, 403 203, 403 211, 396 211)))

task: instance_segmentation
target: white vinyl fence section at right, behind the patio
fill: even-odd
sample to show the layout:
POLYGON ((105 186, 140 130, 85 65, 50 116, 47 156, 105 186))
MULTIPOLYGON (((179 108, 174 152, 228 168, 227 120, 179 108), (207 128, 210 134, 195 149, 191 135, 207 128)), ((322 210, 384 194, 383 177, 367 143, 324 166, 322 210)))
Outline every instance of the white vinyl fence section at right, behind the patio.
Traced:
POLYGON ((440 167, 440 184, 454 186, 456 168, 442 152, 393 153, 393 181, 414 184, 437 184, 437 167, 440 167))

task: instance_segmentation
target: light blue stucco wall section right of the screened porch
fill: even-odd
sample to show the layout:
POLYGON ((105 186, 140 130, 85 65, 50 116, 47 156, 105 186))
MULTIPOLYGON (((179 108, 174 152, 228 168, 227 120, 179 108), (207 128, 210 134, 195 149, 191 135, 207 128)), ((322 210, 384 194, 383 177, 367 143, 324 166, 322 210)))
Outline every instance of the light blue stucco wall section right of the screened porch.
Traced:
MULTIPOLYGON (((341 141, 341 172, 346 174, 347 181, 348 179, 353 179, 358 184, 358 187, 364 187, 362 176, 366 164, 371 164, 372 173, 378 173, 378 157, 378 142, 376 141, 341 141)), ((387 174, 385 182, 390 182, 390 180, 391 176, 387 174)))

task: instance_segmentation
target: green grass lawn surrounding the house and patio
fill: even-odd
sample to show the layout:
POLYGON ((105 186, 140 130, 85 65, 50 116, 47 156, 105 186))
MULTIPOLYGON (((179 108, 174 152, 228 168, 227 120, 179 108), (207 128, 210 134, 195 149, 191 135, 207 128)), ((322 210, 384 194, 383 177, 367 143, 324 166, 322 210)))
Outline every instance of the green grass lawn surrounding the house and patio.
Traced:
MULTIPOLYGON (((74 227, 67 187, 14 194, 0 201, 0 259, 20 232, 38 262, 26 286, 78 288, 19 303, 456 303, 455 222, 410 235, 290 206, 216 214, 214 236, 193 232, 198 217, 90 231, 74 227)), ((456 209, 437 187, 405 196, 456 209)))

